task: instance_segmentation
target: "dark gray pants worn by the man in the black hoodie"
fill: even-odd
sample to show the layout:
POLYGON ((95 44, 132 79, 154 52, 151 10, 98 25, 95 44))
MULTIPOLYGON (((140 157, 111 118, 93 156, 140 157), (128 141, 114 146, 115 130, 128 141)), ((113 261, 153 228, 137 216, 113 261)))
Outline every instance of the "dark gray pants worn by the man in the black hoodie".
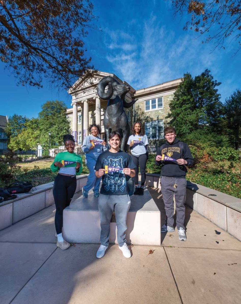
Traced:
POLYGON ((185 220, 185 199, 186 199, 186 179, 175 178, 175 177, 161 177, 161 193, 165 204, 167 225, 174 227, 174 206, 173 206, 173 195, 175 196, 176 202, 176 226, 177 229, 184 227, 185 220), (175 183, 177 188, 174 188, 175 183))

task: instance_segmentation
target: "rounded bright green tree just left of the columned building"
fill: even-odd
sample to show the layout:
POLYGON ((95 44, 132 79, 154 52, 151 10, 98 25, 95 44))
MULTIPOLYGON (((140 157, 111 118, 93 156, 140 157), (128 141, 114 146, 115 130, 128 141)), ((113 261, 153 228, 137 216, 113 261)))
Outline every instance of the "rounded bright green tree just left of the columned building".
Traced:
POLYGON ((41 130, 40 143, 45 148, 49 146, 49 135, 51 133, 51 147, 63 144, 63 134, 70 132, 69 121, 66 117, 66 105, 62 101, 47 101, 41 106, 39 112, 39 128, 41 130))

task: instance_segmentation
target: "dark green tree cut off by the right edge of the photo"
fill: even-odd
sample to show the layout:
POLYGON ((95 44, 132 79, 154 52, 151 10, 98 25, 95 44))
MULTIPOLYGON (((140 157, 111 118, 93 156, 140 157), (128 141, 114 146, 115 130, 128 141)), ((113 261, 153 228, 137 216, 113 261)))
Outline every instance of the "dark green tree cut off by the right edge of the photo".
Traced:
POLYGON ((241 91, 237 90, 226 98, 224 107, 229 139, 237 150, 241 145, 241 91))

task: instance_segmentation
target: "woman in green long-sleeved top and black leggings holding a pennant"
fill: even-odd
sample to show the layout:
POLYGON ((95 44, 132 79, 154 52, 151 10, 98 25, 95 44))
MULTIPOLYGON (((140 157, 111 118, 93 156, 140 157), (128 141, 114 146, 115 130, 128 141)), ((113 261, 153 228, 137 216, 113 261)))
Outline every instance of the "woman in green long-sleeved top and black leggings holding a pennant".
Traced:
POLYGON ((60 152, 55 156, 50 168, 58 175, 54 181, 53 195, 55 200, 55 229, 57 233, 57 247, 62 250, 69 248, 70 244, 63 239, 63 210, 69 206, 76 190, 76 175, 82 172, 82 159, 74 153, 75 141, 70 134, 63 136, 66 152, 60 152))

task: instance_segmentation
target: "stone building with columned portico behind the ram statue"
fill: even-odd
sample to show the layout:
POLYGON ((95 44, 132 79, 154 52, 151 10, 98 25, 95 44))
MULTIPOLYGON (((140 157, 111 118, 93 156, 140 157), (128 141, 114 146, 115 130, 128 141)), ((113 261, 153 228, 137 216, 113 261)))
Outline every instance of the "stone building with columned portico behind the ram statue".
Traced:
MULTIPOLYGON (((73 107, 67 109, 66 116, 79 145, 83 142, 84 136, 88 135, 88 126, 92 123, 101 125, 101 138, 105 138, 103 119, 107 101, 101 100, 97 95, 97 84, 105 76, 112 76, 117 81, 126 83, 115 74, 99 72, 91 83, 81 83, 78 80, 68 91, 72 95, 73 107)), ((130 127, 136 120, 144 124, 151 154, 156 153, 156 147, 163 141, 163 129, 168 125, 165 117, 169 112, 169 102, 181 81, 182 78, 179 78, 140 90, 135 90, 130 85, 130 91, 126 94, 127 102, 138 98, 137 102, 125 111, 130 127)))

